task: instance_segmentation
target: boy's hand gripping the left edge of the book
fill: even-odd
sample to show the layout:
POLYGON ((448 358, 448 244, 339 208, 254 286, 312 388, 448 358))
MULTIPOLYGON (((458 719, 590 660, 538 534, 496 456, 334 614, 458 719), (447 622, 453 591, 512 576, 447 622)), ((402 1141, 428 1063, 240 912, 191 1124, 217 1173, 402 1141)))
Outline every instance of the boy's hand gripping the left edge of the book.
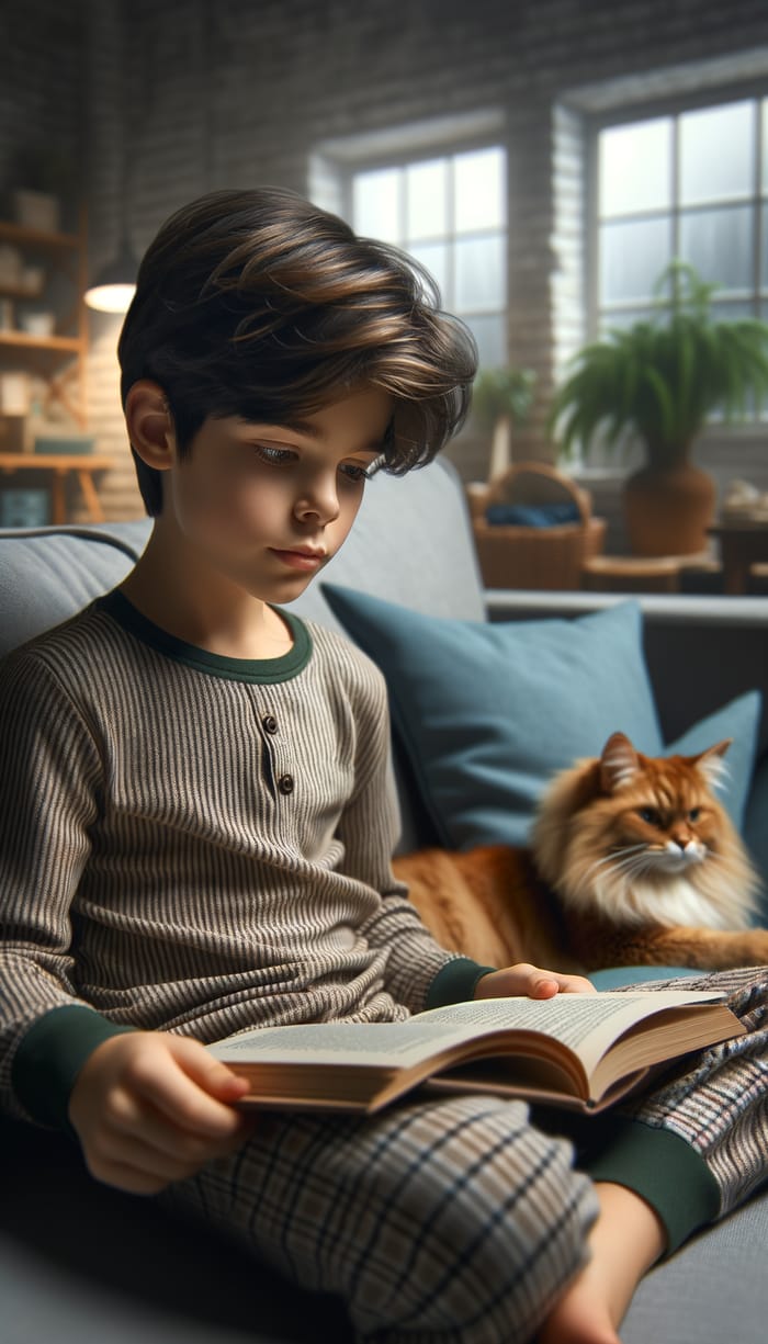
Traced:
POLYGON ((233 1109, 247 1083, 186 1036, 112 1036, 86 1059, 70 1121, 97 1180, 155 1195, 234 1152, 254 1120, 233 1109))

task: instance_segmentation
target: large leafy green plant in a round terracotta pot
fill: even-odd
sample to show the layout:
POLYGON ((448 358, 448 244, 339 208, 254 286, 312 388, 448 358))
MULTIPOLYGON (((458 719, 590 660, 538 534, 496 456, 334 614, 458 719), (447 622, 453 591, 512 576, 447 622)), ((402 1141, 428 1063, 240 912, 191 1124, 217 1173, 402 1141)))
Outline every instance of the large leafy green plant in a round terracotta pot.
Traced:
POLYGON ((716 488, 691 462, 706 419, 744 419, 768 391, 768 324, 718 320, 714 286, 674 261, 662 273, 656 312, 616 328, 576 355, 554 396, 550 427, 562 452, 640 438, 646 465, 628 477, 624 511, 636 555, 687 555, 706 547, 716 488))

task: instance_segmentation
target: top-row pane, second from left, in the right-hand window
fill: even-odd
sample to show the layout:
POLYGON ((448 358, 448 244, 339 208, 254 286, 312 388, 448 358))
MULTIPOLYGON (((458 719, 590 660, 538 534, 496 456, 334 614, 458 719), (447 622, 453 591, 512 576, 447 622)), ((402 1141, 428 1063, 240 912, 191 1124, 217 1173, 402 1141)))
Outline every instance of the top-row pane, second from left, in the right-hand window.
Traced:
POLYGON ((755 103, 732 102, 681 117, 681 203, 751 195, 755 103))

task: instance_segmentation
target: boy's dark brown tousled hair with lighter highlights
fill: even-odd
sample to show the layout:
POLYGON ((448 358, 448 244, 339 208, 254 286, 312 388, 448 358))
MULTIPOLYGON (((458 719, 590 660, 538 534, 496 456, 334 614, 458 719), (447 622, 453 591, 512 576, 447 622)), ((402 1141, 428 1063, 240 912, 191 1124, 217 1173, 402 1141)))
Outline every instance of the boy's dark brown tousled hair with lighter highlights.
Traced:
MULTIPOLYGON (((385 466, 430 461, 461 425, 476 371, 467 328, 401 251, 277 187, 218 191, 149 246, 118 344, 122 402, 163 388, 179 453, 208 417, 312 414, 363 384, 395 401, 385 466)), ((133 453, 147 512, 161 473, 133 453)))

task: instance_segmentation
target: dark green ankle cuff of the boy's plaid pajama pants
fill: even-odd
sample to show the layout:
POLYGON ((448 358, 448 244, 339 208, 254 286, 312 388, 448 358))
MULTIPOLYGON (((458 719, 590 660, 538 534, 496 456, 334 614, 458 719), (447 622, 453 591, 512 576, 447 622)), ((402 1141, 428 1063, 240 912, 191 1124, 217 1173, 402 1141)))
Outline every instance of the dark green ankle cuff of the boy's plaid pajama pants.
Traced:
POLYGON ((720 1212, 720 1188, 709 1167, 670 1129, 616 1118, 605 1144, 580 1165, 592 1180, 633 1189, 656 1211, 667 1230, 667 1255, 720 1212))

